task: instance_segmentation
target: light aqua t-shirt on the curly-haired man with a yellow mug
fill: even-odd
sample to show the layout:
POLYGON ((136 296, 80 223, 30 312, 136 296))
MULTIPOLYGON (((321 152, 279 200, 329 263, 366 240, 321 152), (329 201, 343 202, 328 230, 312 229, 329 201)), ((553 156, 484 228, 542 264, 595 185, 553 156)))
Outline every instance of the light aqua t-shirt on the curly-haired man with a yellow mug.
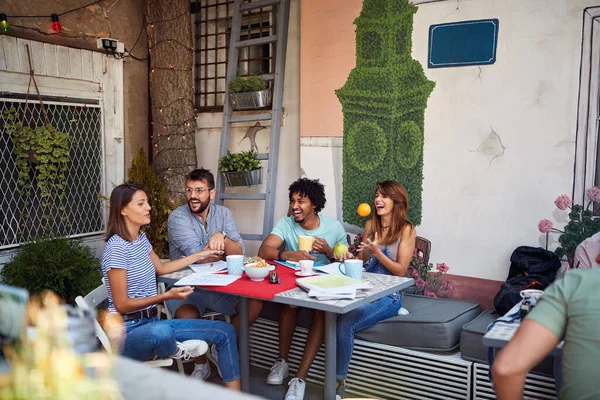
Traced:
MULTIPOLYGON (((319 219, 319 226, 316 229, 309 231, 302 228, 299 223, 294 221, 293 216, 283 217, 277 222, 277 225, 275 225, 271 234, 277 235, 283 239, 285 251, 298 251, 298 236, 314 236, 325 239, 332 249, 338 243, 348 245, 346 231, 340 221, 320 215, 319 219)), ((329 259, 325 254, 315 254, 315 257, 317 257, 318 263, 329 264, 329 259)))

